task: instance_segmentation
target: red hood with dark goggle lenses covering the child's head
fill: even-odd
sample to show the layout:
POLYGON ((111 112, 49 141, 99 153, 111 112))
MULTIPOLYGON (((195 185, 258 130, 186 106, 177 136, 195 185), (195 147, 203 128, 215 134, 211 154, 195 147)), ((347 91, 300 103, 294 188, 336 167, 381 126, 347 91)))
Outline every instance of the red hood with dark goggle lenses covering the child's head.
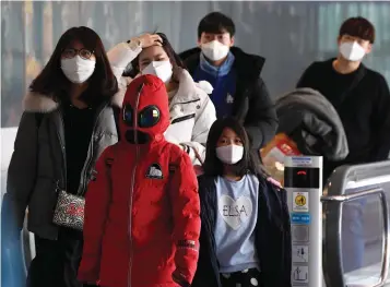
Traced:
POLYGON ((135 77, 126 91, 122 106, 119 118, 120 139, 127 139, 127 141, 135 144, 141 143, 141 141, 130 141, 130 134, 147 134, 151 142, 163 139, 163 134, 169 125, 169 107, 168 94, 162 80, 150 74, 135 77), (152 107, 154 111, 145 112, 152 107), (125 111, 129 109, 132 111, 131 124, 125 122, 125 111), (150 128, 140 127, 142 125, 140 120, 149 117, 158 117, 158 120, 150 128))

